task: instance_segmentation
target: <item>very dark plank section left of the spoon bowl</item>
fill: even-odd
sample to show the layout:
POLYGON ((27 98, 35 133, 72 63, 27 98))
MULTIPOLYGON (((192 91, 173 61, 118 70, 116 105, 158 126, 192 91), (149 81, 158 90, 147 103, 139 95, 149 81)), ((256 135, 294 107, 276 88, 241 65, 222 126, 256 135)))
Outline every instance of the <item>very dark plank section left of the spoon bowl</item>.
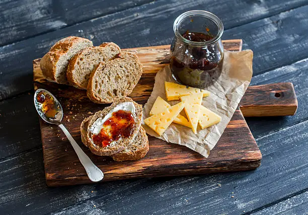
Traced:
POLYGON ((0 102, 0 161, 39 146, 38 122, 33 95, 0 102))

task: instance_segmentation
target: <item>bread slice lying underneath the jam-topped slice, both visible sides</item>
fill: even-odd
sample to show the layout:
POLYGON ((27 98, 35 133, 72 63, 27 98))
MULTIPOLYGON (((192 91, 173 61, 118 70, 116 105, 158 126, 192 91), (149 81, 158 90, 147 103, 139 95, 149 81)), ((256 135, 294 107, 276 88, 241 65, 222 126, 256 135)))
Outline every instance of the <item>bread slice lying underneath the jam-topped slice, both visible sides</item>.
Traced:
MULTIPOLYGON (((83 144, 88 147, 87 141, 87 130, 88 122, 93 116, 89 116, 84 119, 80 126, 81 137, 83 144)), ((146 132, 142 126, 139 128, 135 139, 130 145, 128 145, 124 150, 119 153, 113 154, 111 157, 114 161, 134 161, 143 158, 149 150, 148 138, 146 132)))

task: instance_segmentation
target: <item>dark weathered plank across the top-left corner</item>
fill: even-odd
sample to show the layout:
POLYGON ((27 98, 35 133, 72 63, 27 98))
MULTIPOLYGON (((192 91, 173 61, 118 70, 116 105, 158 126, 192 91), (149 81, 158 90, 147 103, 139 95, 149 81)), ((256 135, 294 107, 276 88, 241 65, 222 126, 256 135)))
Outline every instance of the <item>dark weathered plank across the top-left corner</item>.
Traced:
MULTIPOLYGON (((0 2, 0 46, 149 3, 22 0, 0 2)), ((299 4, 296 3, 296 4, 299 4)), ((292 4, 291 4, 292 5, 292 4)), ((293 5, 292 5, 293 6, 293 5)))

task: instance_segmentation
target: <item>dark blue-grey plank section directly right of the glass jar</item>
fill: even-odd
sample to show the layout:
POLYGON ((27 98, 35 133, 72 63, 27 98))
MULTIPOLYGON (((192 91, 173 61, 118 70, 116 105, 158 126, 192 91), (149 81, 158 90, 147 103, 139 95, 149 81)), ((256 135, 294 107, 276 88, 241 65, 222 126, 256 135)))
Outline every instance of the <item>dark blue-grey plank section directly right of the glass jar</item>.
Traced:
POLYGON ((308 57, 303 48, 308 45, 307 11, 308 6, 304 6, 233 28, 223 38, 243 38, 243 49, 254 51, 256 76, 308 57))

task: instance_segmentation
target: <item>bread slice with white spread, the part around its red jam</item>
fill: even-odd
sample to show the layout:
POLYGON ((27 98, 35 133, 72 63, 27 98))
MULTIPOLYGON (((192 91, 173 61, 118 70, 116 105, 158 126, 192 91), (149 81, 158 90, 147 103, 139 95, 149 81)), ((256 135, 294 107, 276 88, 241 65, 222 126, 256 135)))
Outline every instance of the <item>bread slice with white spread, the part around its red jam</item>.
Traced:
MULTIPOLYGON (((131 98, 123 97, 120 99, 116 99, 111 106, 104 108, 101 111, 96 112, 92 118, 88 120, 88 129, 87 129, 87 138, 86 138, 86 146, 89 147, 90 151, 99 156, 111 156, 113 154, 119 153, 123 151, 131 142, 135 139, 139 128, 141 126, 141 118, 142 118, 142 105, 135 103, 131 98), (135 106, 135 126, 132 130, 132 133, 129 137, 121 138, 117 141, 112 142, 112 144, 108 145, 107 147, 100 147, 93 143, 92 136, 93 133, 91 132, 91 126, 98 118, 104 118, 108 113, 112 112, 112 110, 120 103, 123 102, 132 102, 135 106)), ((84 123, 84 125, 86 122, 84 123)), ((83 125, 82 125, 83 126, 83 125)), ((85 140, 84 140, 85 141, 85 140)))

